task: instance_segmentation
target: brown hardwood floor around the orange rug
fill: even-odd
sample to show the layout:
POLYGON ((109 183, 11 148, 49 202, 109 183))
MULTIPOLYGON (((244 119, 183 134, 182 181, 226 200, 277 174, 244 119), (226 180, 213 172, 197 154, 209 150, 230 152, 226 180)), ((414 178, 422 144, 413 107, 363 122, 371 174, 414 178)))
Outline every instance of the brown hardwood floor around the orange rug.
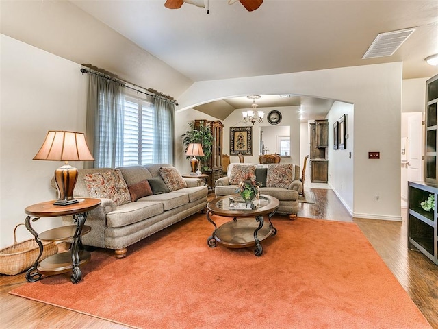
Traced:
MULTIPOLYGON (((308 191, 315 194, 316 203, 300 203, 298 217, 357 223, 424 317, 433 328, 438 329, 438 266, 420 252, 407 249, 406 209, 402 211, 402 223, 352 219, 332 190, 313 188, 308 191)), ((0 275, 0 328, 128 328, 8 294, 25 282, 24 273, 17 276, 0 275)))

